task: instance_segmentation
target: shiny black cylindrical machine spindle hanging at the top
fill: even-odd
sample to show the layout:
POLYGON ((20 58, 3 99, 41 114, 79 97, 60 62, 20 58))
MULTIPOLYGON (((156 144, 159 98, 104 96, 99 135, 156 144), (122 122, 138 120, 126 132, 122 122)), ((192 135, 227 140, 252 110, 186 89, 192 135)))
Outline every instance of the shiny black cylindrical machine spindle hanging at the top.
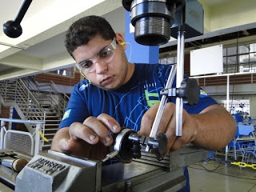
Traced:
POLYGON ((130 5, 134 38, 139 44, 159 46, 170 39, 170 26, 174 23, 175 9, 165 1, 134 0, 130 5))

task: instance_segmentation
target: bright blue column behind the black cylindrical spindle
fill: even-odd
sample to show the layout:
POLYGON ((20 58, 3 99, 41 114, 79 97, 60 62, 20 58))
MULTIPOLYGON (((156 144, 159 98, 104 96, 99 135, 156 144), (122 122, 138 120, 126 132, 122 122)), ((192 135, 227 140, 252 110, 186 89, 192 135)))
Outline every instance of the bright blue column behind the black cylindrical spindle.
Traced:
POLYGON ((127 43, 126 55, 129 62, 158 63, 159 46, 143 46, 135 42, 134 32, 130 33, 130 12, 126 11, 125 39, 127 43))

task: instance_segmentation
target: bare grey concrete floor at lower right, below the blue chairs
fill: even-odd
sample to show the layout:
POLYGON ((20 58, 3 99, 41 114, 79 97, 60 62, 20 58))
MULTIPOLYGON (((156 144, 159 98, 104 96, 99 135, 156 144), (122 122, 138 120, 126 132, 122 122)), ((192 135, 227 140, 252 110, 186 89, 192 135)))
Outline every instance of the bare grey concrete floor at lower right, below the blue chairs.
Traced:
POLYGON ((256 192, 256 170, 210 160, 190 165, 191 192, 256 192))

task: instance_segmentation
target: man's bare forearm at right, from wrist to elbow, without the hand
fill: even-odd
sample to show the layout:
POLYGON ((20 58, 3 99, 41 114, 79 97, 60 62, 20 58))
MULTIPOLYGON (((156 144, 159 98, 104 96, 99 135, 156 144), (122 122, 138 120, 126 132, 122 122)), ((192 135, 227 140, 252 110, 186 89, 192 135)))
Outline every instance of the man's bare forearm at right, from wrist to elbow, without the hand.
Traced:
POLYGON ((210 106, 201 114, 193 116, 198 127, 192 143, 206 150, 222 149, 236 134, 234 118, 222 106, 210 106))

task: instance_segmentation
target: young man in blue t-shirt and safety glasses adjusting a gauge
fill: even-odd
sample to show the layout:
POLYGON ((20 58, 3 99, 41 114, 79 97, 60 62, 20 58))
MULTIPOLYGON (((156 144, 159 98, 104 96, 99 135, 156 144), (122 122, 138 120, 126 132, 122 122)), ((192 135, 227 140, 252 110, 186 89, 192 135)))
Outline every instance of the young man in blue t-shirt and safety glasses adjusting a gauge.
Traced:
MULTIPOLYGON (((51 149, 103 159, 113 143, 110 133, 122 126, 149 136, 171 66, 128 62, 122 34, 98 16, 74 22, 65 42, 86 80, 74 86, 51 149)), ((234 138, 234 118, 206 94, 197 105, 184 105, 182 136, 176 137, 174 102, 167 102, 158 127, 168 138, 166 153, 190 142, 218 150, 234 138)))

